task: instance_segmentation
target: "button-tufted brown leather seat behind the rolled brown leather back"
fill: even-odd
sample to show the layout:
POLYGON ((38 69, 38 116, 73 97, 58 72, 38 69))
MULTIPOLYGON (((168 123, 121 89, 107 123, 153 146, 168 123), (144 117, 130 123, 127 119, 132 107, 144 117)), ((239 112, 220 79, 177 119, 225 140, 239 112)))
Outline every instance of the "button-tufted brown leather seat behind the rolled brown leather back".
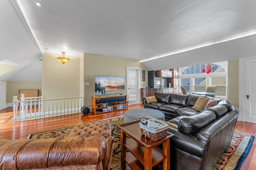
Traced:
POLYGON ((75 137, 79 135, 84 137, 101 135, 107 138, 111 136, 111 124, 110 122, 103 121, 78 124, 74 127, 68 137, 75 137))

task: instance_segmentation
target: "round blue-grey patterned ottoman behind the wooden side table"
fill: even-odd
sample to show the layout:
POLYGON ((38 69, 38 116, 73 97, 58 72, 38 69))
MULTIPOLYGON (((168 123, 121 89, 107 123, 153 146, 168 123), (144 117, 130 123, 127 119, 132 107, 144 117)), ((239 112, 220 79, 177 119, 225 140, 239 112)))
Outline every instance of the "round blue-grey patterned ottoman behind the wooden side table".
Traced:
POLYGON ((164 121, 164 113, 155 109, 130 109, 124 112, 124 123, 151 116, 164 121))

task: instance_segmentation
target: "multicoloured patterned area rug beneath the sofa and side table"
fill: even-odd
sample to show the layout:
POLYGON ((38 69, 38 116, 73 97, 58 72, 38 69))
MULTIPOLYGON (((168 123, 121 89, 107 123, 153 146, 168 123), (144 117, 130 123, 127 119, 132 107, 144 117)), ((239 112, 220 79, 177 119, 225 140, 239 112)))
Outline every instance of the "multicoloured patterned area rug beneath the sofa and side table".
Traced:
MULTIPOLYGON (((124 123, 124 116, 112 117, 110 119, 104 119, 100 121, 111 122, 112 136, 114 137, 114 153, 112 158, 111 168, 112 170, 120 170, 120 129, 117 125, 124 123)), ((45 139, 54 137, 67 137, 72 131, 74 126, 63 127, 60 129, 53 129, 50 131, 35 133, 29 135, 28 139, 45 139)), ((235 131, 231 144, 222 155, 217 164, 212 170, 239 170, 244 162, 246 155, 248 154, 252 141, 253 135, 235 131)))

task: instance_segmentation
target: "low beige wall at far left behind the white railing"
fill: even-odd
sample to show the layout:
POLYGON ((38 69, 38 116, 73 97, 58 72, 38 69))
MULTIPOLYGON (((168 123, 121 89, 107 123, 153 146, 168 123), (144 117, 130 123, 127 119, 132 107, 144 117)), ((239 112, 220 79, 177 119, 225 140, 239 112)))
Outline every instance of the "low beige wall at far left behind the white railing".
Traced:
MULTIPOLYGON (((39 90, 39 96, 42 95, 42 82, 6 82, 6 104, 12 103, 13 96, 18 96, 19 90, 39 90)), ((25 96, 26 97, 26 96, 25 96)))

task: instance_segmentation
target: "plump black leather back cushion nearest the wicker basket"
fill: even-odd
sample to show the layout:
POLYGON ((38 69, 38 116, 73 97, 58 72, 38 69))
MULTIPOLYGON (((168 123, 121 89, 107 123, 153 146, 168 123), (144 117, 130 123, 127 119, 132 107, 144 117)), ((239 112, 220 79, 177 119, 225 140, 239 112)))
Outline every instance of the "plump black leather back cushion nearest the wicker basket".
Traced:
POLYGON ((188 135, 197 135, 202 129, 216 120, 213 111, 204 110, 197 115, 183 117, 178 123, 178 131, 188 135))

